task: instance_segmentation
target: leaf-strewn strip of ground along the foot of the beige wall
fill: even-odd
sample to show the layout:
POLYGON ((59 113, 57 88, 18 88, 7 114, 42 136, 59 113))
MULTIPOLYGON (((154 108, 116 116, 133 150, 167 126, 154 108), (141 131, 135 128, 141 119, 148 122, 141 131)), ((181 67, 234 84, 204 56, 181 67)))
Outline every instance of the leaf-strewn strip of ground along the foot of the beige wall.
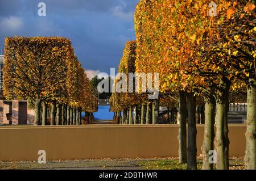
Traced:
MULTIPOLYGON (((202 160, 198 158, 198 169, 201 169, 202 160)), ((137 159, 82 159, 66 161, 48 161, 39 164, 36 161, 1 162, 1 169, 68 169, 68 170, 147 170, 186 169, 185 164, 179 164, 177 158, 137 158, 137 159)), ((230 158, 230 169, 245 169, 242 157, 230 158)))

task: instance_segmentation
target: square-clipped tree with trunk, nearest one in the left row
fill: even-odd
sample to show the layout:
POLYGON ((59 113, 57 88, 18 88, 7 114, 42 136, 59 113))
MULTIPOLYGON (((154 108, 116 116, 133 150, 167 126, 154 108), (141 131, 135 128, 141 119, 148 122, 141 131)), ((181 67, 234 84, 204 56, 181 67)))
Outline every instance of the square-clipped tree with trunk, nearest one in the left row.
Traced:
POLYGON ((5 95, 31 99, 35 125, 40 125, 44 100, 62 97, 71 42, 61 37, 7 37, 5 39, 5 95))

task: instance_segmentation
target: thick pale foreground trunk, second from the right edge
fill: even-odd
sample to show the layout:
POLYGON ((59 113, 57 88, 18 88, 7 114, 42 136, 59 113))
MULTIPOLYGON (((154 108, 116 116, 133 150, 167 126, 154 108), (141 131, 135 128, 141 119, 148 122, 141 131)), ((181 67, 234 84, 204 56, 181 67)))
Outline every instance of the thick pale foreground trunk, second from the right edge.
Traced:
POLYGON ((220 87, 216 97, 216 137, 214 145, 217 151, 218 170, 229 169, 229 138, 228 138, 228 109, 229 109, 229 88, 228 83, 220 80, 220 87))

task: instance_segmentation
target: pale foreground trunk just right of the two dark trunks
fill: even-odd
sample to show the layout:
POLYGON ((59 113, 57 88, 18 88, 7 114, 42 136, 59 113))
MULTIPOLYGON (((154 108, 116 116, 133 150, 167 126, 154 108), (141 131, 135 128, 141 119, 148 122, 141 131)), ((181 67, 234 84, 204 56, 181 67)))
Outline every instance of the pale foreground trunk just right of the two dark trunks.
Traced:
POLYGON ((203 154, 203 170, 213 170, 213 162, 209 161, 209 151, 214 149, 214 102, 215 99, 210 97, 205 100, 205 125, 204 125, 204 142, 201 147, 203 154))

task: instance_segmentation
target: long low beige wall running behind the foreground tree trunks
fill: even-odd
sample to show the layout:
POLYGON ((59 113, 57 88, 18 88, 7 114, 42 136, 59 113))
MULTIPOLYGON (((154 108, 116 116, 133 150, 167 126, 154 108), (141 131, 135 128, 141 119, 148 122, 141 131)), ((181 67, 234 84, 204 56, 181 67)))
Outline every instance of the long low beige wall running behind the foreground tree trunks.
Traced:
MULTIPOLYGON (((0 127, 0 160, 177 157, 178 125, 0 127)), ((246 125, 229 125, 230 156, 245 155, 246 125)), ((204 127, 197 126, 197 153, 204 127)))

